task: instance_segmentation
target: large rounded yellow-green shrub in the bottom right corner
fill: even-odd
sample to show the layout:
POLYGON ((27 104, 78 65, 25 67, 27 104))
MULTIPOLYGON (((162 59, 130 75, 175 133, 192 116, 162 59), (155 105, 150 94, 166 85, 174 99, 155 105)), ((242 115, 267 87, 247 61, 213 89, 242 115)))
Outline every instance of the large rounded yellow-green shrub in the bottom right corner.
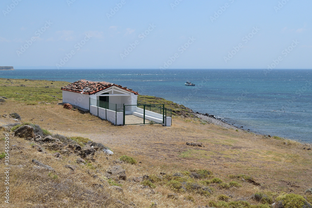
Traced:
POLYGON ((302 208, 311 206, 309 202, 303 198, 303 196, 297 194, 285 194, 276 198, 276 201, 282 201, 283 208, 302 208))

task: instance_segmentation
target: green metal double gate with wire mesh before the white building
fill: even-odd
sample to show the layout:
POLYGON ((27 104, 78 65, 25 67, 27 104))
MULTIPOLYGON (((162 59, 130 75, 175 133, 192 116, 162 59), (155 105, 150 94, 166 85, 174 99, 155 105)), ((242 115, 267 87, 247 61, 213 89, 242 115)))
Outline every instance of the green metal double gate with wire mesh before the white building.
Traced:
POLYGON ((124 105, 124 125, 164 123, 164 104, 124 105))

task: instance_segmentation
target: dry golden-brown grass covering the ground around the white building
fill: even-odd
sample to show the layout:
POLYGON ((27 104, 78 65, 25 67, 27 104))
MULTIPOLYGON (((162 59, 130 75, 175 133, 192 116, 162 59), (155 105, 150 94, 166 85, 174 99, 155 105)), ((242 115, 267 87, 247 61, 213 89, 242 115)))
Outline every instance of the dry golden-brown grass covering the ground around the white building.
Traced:
MULTIPOLYGON (((36 152, 29 141, 15 138, 10 133, 10 145, 17 146, 10 150, 12 204, 8 207, 126 207, 120 205, 120 201, 126 205, 132 201, 137 207, 150 207, 152 203, 156 203, 157 207, 197 207, 222 201, 221 194, 232 195, 231 201, 246 200, 259 205, 250 197, 256 192, 273 198, 284 192, 295 193, 311 200, 310 195, 305 195, 305 190, 312 187, 312 152, 303 150, 304 144, 236 132, 213 124, 203 125, 198 119, 174 117, 172 127, 155 124, 114 126, 93 115, 63 109, 56 103, 26 105, 25 102, 9 99, 0 105, 1 115, 13 112, 21 115, 22 122, 39 124, 51 133, 89 138, 110 147, 115 154, 107 160, 103 153, 97 153, 95 162, 90 161, 87 166, 76 164, 76 170, 70 171, 64 165, 74 165, 75 155, 58 160, 50 154, 36 152), (186 146, 186 142, 202 143, 205 147, 186 146), (154 189, 144 189, 140 183, 115 179, 114 182, 123 188, 123 193, 113 189, 112 182, 104 177, 104 173, 113 166, 113 161, 123 155, 138 161, 133 165, 121 164, 128 178, 158 176, 160 172, 165 172, 166 177, 159 179, 154 176, 154 189), (32 159, 53 167, 55 172, 37 170, 32 159), (186 171, 192 169, 209 170, 213 176, 188 178, 186 171), (167 198, 168 193, 174 192, 168 185, 168 177, 176 172, 183 173, 183 180, 201 183, 217 177, 225 183, 236 181, 242 187, 224 189, 220 184, 211 183, 208 186, 214 192, 210 196, 176 190, 178 198, 167 198), (252 177, 260 185, 242 181, 242 175, 246 179, 252 177), (103 188, 95 184, 101 184, 103 188)), ((14 121, 2 117, 0 125, 6 123, 14 121)), ((3 137, 1 131, 0 138, 3 137)), ((3 152, 3 140, 0 147, 0 152, 3 152)), ((4 166, 4 161, 0 160, 2 170, 4 166)), ((3 182, 0 189, 4 190, 3 182)), ((2 192, 0 197, 3 199, 2 192)), ((4 205, 3 200, 1 204, 4 205)), ((219 207, 229 206, 220 204, 219 207)))

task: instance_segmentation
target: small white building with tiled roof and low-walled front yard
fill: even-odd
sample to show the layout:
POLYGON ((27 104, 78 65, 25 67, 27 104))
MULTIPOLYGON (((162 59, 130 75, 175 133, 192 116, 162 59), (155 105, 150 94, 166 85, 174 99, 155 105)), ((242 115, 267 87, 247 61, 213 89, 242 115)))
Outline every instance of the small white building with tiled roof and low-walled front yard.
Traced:
POLYGON ((171 117, 165 115, 167 111, 164 107, 159 106, 161 114, 158 111, 158 113, 149 111, 145 107, 145 110, 139 108, 137 105, 139 93, 127 87, 109 82, 79 80, 61 89, 63 103, 89 110, 91 114, 116 125, 127 125, 129 123, 126 123, 126 120, 142 118, 144 124, 145 120, 148 120, 171 126, 171 117))

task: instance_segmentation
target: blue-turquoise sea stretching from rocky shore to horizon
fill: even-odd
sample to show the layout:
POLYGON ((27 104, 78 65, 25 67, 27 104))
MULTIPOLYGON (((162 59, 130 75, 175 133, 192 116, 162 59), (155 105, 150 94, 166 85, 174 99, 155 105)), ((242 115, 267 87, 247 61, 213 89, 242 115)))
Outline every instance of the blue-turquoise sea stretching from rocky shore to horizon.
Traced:
POLYGON ((107 81, 251 132, 312 143, 312 70, 19 69, 0 71, 0 77, 107 81))

